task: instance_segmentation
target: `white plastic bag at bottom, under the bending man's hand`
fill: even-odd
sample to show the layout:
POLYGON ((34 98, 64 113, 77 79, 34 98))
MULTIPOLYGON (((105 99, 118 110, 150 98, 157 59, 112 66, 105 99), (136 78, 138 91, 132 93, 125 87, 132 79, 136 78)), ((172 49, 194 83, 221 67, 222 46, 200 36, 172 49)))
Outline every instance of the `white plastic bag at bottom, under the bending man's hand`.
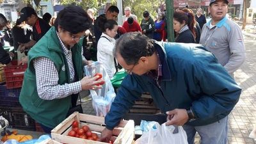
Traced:
POLYGON ((177 126, 179 130, 173 134, 175 127, 173 125, 166 126, 165 123, 159 125, 156 123, 156 129, 150 129, 148 132, 142 134, 136 144, 188 144, 186 131, 182 126, 177 126))

